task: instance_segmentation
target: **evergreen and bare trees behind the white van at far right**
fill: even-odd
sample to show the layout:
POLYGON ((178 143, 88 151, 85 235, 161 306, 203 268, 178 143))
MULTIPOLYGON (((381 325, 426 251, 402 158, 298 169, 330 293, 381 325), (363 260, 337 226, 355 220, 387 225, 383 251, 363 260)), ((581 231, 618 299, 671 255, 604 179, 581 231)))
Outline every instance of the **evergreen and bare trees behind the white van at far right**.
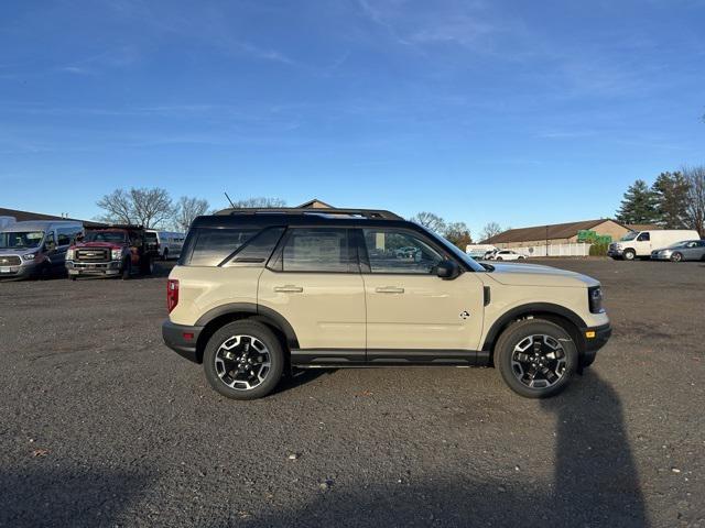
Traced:
POLYGON ((651 186, 637 179, 625 193, 616 218, 627 224, 694 229, 705 237, 705 166, 661 173, 651 186))

